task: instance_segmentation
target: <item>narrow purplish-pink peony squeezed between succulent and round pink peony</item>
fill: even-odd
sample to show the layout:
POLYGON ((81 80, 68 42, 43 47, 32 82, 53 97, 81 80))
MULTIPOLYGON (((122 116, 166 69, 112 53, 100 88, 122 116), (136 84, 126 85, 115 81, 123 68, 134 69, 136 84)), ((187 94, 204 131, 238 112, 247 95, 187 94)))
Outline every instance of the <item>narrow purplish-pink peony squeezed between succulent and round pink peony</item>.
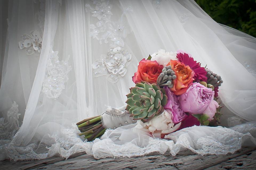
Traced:
POLYGON ((177 124, 186 118, 187 115, 179 108, 177 96, 170 91, 169 87, 165 86, 164 88, 168 97, 164 108, 173 115, 173 123, 177 124))

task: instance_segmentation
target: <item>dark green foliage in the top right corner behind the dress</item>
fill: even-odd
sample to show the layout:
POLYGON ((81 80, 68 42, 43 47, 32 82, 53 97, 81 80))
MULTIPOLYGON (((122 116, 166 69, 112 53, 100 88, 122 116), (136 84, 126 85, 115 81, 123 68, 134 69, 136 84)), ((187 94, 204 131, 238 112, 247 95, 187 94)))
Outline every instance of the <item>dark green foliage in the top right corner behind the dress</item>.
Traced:
POLYGON ((195 0, 217 23, 256 37, 256 0, 195 0))

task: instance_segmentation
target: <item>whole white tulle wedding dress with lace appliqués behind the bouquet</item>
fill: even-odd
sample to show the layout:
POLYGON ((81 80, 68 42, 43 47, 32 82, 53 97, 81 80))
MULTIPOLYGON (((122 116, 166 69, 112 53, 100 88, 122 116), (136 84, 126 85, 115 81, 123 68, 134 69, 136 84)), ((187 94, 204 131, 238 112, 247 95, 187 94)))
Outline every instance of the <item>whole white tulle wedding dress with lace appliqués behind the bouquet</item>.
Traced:
POLYGON ((6 4, 0 160, 227 154, 256 145, 256 39, 216 23, 193 0, 10 0, 8 11, 6 4), (138 62, 158 49, 184 50, 221 75, 221 125, 234 127, 193 126, 166 140, 135 123, 83 141, 75 123, 124 105, 138 62))

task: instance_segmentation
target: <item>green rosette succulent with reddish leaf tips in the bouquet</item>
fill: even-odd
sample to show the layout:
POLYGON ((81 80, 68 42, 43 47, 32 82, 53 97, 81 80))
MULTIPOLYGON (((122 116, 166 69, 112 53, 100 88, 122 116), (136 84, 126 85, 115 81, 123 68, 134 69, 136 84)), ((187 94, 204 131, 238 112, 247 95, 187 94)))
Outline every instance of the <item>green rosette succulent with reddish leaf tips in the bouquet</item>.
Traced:
POLYGON ((126 96, 126 111, 131 114, 133 120, 149 121, 161 114, 167 103, 165 90, 148 82, 137 83, 135 87, 130 88, 130 93, 126 96))

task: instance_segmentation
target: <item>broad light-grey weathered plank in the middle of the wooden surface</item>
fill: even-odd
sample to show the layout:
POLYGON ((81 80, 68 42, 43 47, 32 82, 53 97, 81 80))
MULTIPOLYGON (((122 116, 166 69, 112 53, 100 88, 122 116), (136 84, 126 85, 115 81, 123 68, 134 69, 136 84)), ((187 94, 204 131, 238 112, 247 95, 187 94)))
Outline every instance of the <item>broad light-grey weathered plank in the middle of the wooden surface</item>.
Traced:
MULTIPOLYGON (((79 156, 66 161, 57 162, 51 165, 43 166, 43 169, 205 169, 211 165, 222 163, 226 160, 236 158, 255 148, 242 148, 239 152, 229 155, 193 155, 193 153, 177 156, 171 155, 146 155, 133 158, 104 158, 88 159, 88 155, 79 156), (191 155, 192 154, 192 155, 191 155)), ((40 169, 41 169, 40 168, 40 169)), ((39 168, 38 168, 39 169, 39 168)))

